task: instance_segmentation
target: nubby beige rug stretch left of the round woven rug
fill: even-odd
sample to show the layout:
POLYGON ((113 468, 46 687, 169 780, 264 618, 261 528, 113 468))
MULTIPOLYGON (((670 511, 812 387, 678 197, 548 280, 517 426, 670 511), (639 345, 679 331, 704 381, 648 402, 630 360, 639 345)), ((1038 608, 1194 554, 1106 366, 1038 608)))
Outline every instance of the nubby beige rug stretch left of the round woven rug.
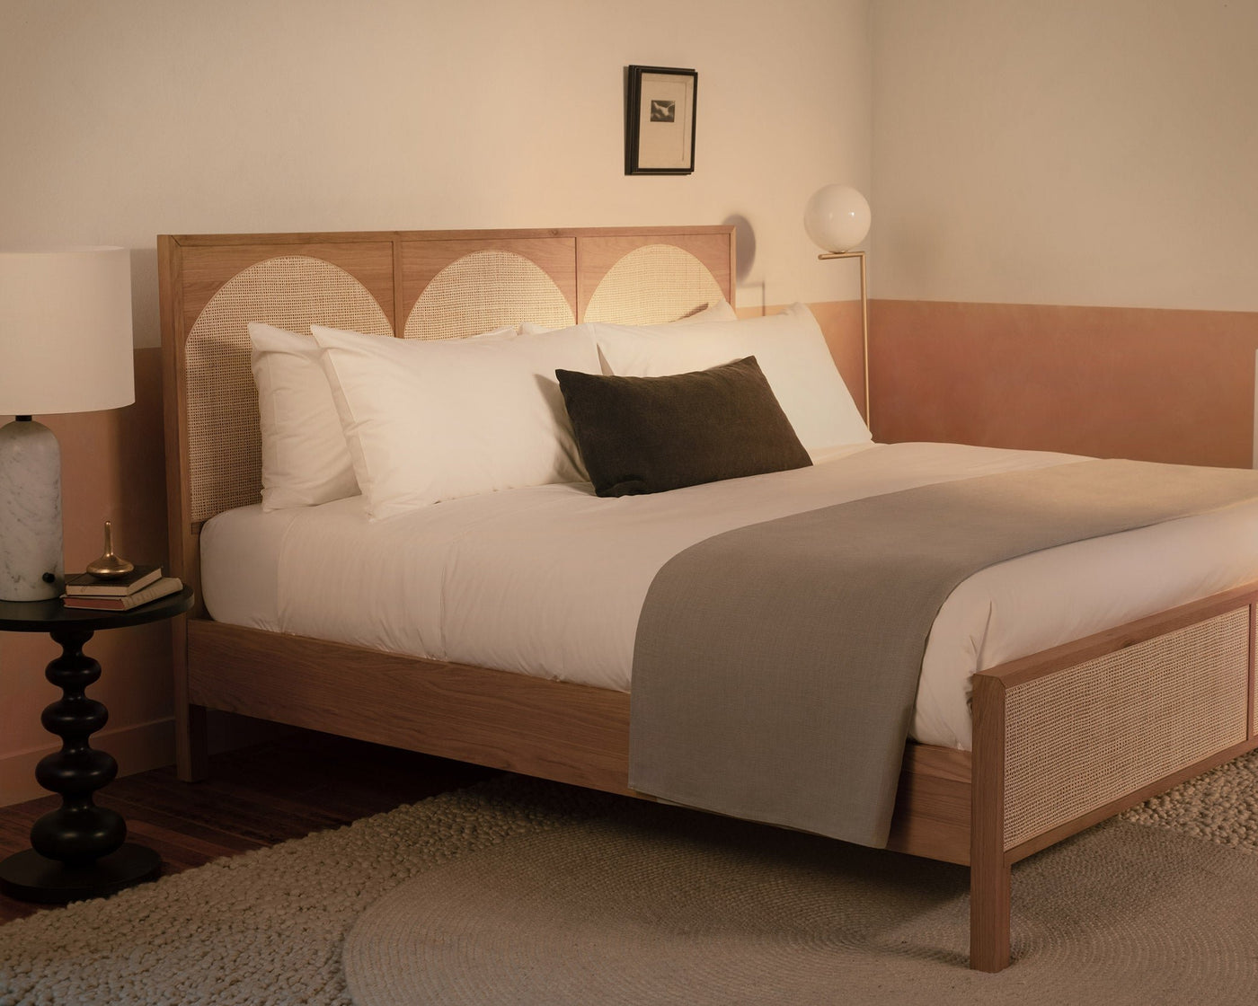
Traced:
POLYGON ((350 1006, 341 944, 424 870, 605 812, 507 776, 0 926, 0 1006, 350 1006))

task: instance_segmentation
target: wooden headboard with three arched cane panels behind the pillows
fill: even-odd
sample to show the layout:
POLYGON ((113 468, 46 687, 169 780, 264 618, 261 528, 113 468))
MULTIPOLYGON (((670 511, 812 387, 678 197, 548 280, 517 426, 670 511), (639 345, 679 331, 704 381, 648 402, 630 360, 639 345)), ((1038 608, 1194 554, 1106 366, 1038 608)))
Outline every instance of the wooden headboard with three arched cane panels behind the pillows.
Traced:
POLYGON ((157 239, 170 565, 198 582, 204 521, 260 492, 250 321, 400 338, 502 324, 676 321, 733 302, 732 226, 157 239))

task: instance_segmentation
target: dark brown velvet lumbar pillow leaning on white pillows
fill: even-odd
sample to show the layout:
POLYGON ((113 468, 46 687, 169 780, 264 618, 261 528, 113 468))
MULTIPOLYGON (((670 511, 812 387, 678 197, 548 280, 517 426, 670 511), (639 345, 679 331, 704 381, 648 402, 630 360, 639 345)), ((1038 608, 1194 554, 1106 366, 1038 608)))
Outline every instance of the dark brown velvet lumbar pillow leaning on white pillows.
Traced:
POLYGON ((662 493, 813 463, 754 356, 667 377, 555 376, 599 495, 662 493))

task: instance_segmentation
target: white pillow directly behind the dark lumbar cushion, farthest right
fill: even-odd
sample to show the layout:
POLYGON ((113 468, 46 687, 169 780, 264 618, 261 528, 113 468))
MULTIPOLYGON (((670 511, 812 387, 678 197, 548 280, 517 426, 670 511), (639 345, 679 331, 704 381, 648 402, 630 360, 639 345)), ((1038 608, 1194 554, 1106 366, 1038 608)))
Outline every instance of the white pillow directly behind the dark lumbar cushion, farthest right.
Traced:
POLYGON ((813 312, 791 304, 780 314, 686 326, 585 326, 621 377, 687 373, 755 356, 777 402, 811 454, 873 438, 839 376, 813 312))

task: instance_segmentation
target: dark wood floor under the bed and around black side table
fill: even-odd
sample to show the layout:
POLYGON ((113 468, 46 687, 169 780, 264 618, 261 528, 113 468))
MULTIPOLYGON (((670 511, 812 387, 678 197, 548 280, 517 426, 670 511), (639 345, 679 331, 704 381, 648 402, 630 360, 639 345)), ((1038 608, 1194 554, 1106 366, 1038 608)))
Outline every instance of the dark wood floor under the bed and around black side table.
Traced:
MULTIPOLYGON (((301 732, 210 758, 210 777, 186 783, 157 768, 97 793, 127 819, 127 839, 155 849, 162 873, 276 845, 411 804, 493 775, 409 751, 301 732)), ((0 807, 0 859, 30 845, 35 819, 60 804, 47 796, 0 807)), ((0 895, 0 923, 47 905, 0 895)))

